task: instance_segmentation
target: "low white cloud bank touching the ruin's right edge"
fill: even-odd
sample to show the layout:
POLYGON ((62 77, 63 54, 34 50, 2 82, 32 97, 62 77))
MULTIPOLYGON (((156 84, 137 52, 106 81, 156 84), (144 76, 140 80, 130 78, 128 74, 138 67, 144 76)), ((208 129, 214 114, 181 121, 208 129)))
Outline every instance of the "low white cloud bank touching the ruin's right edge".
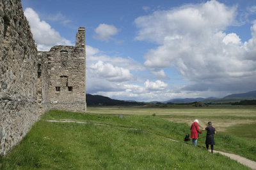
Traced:
MULTIPOLYGON (((145 67, 131 57, 113 57, 106 55, 97 48, 86 45, 86 90, 91 94, 121 94, 138 92, 132 84, 136 80, 133 72, 144 70, 145 67), (131 92, 132 90, 132 92, 131 92)), ((128 94, 127 94, 128 95, 128 94)), ((120 98, 119 98, 120 99, 120 98)))

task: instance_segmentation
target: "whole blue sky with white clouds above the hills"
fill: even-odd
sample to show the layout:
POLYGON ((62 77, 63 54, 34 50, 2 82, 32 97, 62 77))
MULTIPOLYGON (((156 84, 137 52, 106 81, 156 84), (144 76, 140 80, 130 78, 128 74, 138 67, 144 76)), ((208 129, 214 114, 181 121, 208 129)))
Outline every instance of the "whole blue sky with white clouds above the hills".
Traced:
POLYGON ((86 93, 167 101, 256 90, 256 1, 22 0, 38 50, 86 27, 86 93))

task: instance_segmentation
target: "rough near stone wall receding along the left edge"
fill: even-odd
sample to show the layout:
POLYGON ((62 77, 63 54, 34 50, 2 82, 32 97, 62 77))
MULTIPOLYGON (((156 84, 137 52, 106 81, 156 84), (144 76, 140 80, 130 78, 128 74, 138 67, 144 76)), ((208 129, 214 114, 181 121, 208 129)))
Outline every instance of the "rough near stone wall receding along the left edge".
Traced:
POLYGON ((37 50, 20 0, 0 0, 0 154, 38 120, 37 50))

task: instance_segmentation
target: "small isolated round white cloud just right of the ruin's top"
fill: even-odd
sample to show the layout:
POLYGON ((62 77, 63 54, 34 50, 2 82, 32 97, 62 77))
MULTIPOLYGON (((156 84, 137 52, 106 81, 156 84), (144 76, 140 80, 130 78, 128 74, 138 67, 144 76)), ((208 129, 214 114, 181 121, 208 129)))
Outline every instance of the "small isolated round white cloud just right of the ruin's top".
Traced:
POLYGON ((112 36, 115 36, 118 33, 118 29, 116 29, 114 25, 108 24, 99 24, 94 31, 96 33, 95 38, 107 42, 109 39, 113 39, 112 36))

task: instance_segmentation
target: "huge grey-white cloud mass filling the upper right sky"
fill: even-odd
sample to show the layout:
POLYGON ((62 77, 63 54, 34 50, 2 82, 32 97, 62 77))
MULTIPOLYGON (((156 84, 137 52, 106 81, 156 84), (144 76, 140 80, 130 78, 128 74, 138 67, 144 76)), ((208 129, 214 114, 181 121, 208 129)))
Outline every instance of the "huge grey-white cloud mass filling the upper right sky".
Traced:
POLYGON ((255 90, 256 24, 242 43, 236 33, 225 33, 236 13, 236 6, 212 0, 136 18, 136 39, 158 45, 144 56, 145 66, 176 69, 189 81, 182 90, 255 90))

